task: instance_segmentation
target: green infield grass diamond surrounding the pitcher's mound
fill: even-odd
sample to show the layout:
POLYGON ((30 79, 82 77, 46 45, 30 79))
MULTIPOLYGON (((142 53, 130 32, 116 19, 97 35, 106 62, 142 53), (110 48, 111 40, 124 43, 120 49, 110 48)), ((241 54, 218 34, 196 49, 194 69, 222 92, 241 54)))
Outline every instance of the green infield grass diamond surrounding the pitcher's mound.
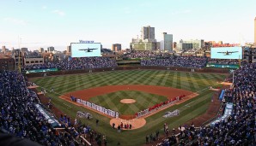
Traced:
POLYGON ((135 114, 143 109, 154 106, 156 103, 167 101, 166 96, 149 94, 143 91, 116 91, 103 96, 94 96, 89 102, 94 102, 102 107, 118 111, 119 114, 135 114), (122 99, 134 99, 132 104, 121 103, 122 99))

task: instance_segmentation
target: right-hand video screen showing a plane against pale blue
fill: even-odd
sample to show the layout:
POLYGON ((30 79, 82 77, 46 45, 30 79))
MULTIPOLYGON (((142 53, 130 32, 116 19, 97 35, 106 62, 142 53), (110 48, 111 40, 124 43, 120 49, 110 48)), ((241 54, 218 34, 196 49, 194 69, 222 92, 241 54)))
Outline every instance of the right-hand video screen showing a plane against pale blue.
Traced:
POLYGON ((242 59, 241 47, 216 47, 210 49, 210 58, 213 59, 242 59))

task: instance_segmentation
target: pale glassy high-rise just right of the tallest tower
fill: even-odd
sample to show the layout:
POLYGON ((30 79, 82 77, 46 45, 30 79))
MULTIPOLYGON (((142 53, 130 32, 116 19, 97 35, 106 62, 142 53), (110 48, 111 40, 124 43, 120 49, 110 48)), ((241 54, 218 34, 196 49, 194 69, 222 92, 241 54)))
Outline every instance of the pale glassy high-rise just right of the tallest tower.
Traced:
POLYGON ((163 40, 161 42, 161 50, 173 50, 173 34, 168 34, 167 32, 163 32, 163 40))

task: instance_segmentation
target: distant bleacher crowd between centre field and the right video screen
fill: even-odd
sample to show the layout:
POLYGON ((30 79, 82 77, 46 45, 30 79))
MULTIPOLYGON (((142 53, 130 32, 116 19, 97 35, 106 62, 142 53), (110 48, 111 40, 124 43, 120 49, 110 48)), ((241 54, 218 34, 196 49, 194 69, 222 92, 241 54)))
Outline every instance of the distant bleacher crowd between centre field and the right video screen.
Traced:
POLYGON ((142 66, 160 66, 160 67, 205 67, 206 57, 200 56, 174 56, 168 59, 150 59, 142 60, 142 66))

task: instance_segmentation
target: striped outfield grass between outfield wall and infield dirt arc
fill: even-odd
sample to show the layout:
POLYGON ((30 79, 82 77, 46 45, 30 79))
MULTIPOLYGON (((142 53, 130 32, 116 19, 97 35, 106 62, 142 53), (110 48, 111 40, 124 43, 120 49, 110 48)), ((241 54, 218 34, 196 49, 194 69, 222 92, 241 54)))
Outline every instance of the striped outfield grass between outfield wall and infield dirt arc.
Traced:
POLYGON ((59 94, 105 85, 162 85, 198 91, 216 84, 224 77, 215 73, 131 70, 46 77, 34 79, 34 82, 48 90, 54 88, 59 94))

